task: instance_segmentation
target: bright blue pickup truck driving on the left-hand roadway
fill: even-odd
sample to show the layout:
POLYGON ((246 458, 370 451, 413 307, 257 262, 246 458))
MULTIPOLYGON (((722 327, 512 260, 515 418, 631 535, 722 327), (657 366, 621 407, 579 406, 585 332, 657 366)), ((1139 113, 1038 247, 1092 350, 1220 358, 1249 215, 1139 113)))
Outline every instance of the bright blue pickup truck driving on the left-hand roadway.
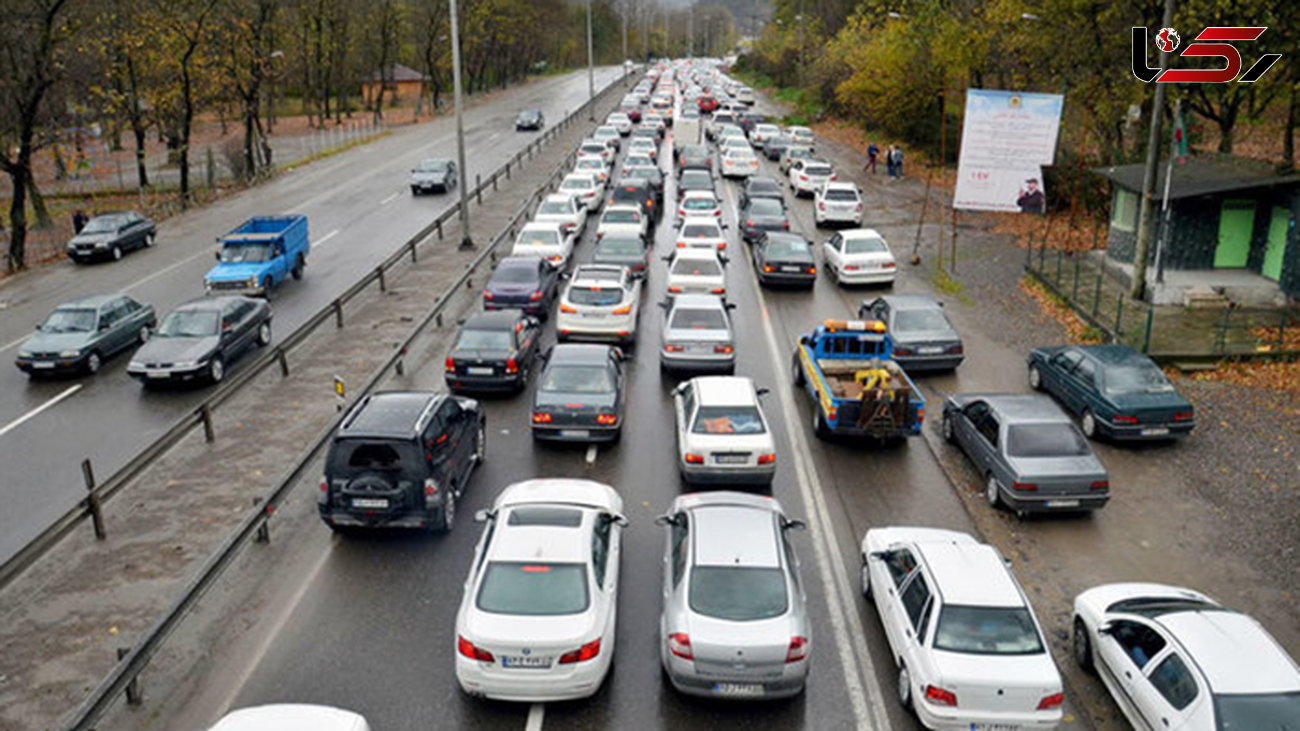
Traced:
POLYGON ((289 277, 303 278, 311 239, 307 216, 254 216, 217 237, 217 265, 203 277, 208 294, 270 297, 289 277))

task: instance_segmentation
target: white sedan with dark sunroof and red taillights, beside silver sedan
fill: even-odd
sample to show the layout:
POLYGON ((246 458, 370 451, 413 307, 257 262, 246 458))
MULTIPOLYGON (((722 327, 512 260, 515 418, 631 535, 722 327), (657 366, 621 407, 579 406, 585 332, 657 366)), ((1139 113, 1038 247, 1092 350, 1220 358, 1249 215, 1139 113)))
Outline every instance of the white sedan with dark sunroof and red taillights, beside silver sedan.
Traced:
POLYGON ((521 702, 594 695, 614 663, 623 498, 590 480, 525 480, 474 519, 485 525, 456 611, 460 689, 521 702))

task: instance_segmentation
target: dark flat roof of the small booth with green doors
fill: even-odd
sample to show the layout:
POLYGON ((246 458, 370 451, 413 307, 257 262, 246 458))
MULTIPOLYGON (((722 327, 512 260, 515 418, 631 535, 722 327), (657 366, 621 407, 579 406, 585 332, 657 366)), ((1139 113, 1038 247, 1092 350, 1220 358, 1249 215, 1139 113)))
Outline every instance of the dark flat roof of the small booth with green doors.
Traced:
MULTIPOLYGON (((1165 193, 1165 172, 1167 168, 1169 165, 1165 161, 1156 168, 1156 195, 1164 195, 1165 193)), ((1122 189, 1140 193, 1145 165, 1143 163, 1112 165, 1109 168, 1093 168, 1092 172, 1109 178, 1110 182, 1122 189)), ((1300 183, 1300 173, 1278 173, 1268 163, 1234 157, 1231 155, 1188 157, 1182 163, 1174 163, 1174 178, 1169 189, 1169 198, 1193 198, 1252 187, 1296 183, 1300 183)))

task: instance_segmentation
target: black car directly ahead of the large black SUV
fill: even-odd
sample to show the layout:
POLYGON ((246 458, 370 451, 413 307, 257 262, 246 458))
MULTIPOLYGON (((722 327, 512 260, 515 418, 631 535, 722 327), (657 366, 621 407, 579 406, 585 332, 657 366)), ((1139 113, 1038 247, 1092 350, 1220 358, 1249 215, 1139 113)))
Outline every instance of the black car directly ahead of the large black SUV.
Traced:
POLYGON ((443 379, 452 392, 523 390, 537 359, 542 328, 523 310, 494 310, 462 323, 443 379))

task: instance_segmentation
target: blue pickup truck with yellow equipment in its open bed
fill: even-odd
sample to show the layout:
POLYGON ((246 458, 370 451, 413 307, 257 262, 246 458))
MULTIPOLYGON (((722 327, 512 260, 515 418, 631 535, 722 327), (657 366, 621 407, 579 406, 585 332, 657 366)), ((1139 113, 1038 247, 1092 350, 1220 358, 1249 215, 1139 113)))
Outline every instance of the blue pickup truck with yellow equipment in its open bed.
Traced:
POLYGON ((878 320, 826 320, 800 337, 794 385, 812 398, 812 431, 897 442, 920 433, 926 397, 893 360, 878 320))

